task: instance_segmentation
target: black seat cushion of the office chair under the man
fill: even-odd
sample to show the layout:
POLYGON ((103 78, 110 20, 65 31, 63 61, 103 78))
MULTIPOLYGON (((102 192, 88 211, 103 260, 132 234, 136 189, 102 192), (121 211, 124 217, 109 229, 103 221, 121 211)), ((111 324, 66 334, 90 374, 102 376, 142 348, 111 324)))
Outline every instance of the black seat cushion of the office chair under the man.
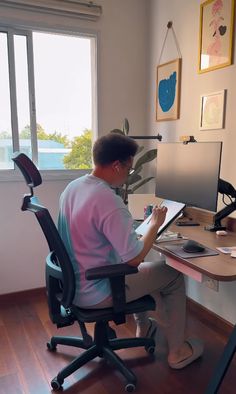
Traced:
MULTIPOLYGON (((138 298, 135 301, 128 302, 125 305, 124 314, 129 315, 132 313, 144 312, 144 311, 154 311, 156 309, 156 302, 154 298, 150 295, 138 298)), ((113 308, 103 308, 103 309, 84 309, 73 305, 73 313, 78 320, 85 323, 97 322, 99 320, 111 321, 116 319, 116 314, 113 308)))

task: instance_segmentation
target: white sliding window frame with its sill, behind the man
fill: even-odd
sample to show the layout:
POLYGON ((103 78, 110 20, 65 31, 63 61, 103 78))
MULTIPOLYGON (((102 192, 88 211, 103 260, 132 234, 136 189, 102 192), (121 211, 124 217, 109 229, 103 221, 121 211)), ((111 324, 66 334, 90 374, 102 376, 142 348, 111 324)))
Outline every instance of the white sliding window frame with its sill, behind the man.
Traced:
MULTIPOLYGON (((93 140, 97 137, 98 130, 98 110, 97 110, 97 47, 98 47, 98 34, 95 32, 84 31, 82 29, 71 29, 65 28, 49 29, 45 26, 27 26, 22 24, 11 24, 4 25, 0 21, 0 31, 10 31, 10 50, 9 58, 14 56, 13 50, 13 34, 24 34, 27 36, 27 55, 28 55, 28 76, 29 76, 29 105, 30 105, 30 125, 31 125, 31 144, 32 144, 32 159, 37 165, 38 161, 38 148, 37 148, 37 131, 36 131, 36 110, 35 110, 35 91, 34 91, 34 67, 33 67, 33 51, 29 51, 29 47, 32 48, 32 33, 33 32, 44 32, 44 33, 55 33, 55 34, 68 34, 72 36, 87 37, 91 38, 92 50, 91 50, 91 64, 92 64, 92 130, 93 140), (29 46, 29 47, 28 47, 29 46)), ((14 62, 9 62, 14 64, 14 62)), ((12 143, 13 151, 19 151, 19 139, 17 136, 18 121, 17 121, 17 103, 16 103, 16 81, 15 81, 15 70, 9 67, 9 83, 10 83, 10 97, 11 97, 11 116, 12 116, 12 143)), ((40 170, 43 180, 72 180, 86 173, 90 170, 40 170)), ((12 182, 22 181, 22 176, 19 171, 14 169, 0 170, 0 182, 12 182)))

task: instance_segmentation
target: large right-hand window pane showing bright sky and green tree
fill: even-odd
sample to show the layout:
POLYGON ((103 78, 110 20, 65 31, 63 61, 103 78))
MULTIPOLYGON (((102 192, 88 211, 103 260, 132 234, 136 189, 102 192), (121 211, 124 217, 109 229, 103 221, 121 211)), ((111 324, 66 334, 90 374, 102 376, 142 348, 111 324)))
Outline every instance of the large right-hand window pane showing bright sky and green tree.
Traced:
POLYGON ((91 39, 34 32, 33 47, 39 168, 91 168, 91 39))

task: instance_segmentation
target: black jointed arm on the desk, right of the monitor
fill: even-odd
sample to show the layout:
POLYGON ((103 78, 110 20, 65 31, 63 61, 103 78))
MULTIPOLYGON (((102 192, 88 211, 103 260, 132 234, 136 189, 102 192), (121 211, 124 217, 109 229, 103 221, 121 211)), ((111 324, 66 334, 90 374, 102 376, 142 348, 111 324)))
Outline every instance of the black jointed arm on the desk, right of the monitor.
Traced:
POLYGON ((221 220, 236 210, 236 190, 231 183, 224 181, 223 179, 219 179, 218 191, 223 194, 223 203, 226 207, 215 214, 214 224, 206 227, 206 230, 209 231, 225 230, 226 227, 221 225, 221 220), (225 195, 229 198, 230 204, 226 204, 224 201, 225 195))

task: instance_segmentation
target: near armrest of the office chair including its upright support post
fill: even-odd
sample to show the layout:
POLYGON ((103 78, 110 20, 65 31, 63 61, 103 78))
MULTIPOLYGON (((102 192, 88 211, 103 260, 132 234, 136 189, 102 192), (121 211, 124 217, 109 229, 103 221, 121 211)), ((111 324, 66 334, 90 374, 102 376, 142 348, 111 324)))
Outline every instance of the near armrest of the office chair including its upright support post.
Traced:
POLYGON ((125 323, 125 276, 136 274, 137 267, 132 267, 129 264, 111 264, 99 268, 91 268, 85 272, 85 277, 88 280, 104 279, 110 281, 112 304, 114 311, 114 322, 116 324, 125 323))

